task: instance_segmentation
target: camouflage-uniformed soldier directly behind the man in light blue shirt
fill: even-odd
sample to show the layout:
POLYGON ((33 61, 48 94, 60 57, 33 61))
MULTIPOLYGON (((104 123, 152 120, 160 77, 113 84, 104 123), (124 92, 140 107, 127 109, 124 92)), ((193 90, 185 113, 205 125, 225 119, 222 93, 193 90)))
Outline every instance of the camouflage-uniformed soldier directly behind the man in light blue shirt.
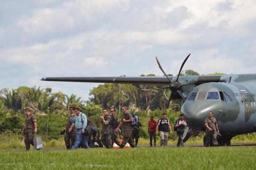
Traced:
POLYGON ((70 121, 71 117, 75 117, 75 107, 70 108, 70 117, 67 119, 67 126, 65 128, 64 141, 67 149, 70 149, 76 142, 77 129, 75 128, 75 123, 70 121), (70 142, 71 141, 71 142, 70 142))

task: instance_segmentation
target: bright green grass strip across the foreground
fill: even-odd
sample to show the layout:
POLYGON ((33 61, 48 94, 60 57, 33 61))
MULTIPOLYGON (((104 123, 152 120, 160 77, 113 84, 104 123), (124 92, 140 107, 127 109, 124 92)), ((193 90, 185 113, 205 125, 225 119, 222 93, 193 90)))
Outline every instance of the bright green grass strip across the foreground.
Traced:
POLYGON ((256 147, 0 150, 1 170, 255 169, 256 147))

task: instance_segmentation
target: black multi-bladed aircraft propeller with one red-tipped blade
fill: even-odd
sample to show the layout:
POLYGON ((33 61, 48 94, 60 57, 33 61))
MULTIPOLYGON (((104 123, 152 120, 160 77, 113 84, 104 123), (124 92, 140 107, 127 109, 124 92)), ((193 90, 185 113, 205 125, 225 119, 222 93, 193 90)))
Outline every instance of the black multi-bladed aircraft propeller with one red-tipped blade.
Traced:
MULTIPOLYGON (((180 94, 180 96, 182 97, 183 100, 186 100, 186 98, 183 96, 182 92, 180 91, 180 88, 181 88, 182 86, 184 86, 184 85, 181 85, 181 83, 178 81, 178 79, 179 79, 179 76, 180 76, 180 72, 181 72, 181 70, 182 70, 184 64, 186 63, 186 60, 189 58, 189 56, 190 56, 190 54, 186 57, 186 59, 184 59, 182 65, 181 65, 181 67, 180 67, 180 71, 179 71, 179 74, 178 74, 178 76, 177 76, 176 81, 172 81, 171 79, 169 79, 169 77, 168 77, 168 76, 166 75, 166 73, 163 71, 163 68, 162 68, 162 66, 160 65, 160 62, 159 62, 159 60, 158 60, 157 57, 156 57, 158 67, 159 67, 160 70, 163 72, 163 74, 167 77, 167 79, 169 79, 170 84, 169 84, 168 87, 154 88, 154 89, 145 89, 145 88, 143 88, 142 90, 143 90, 143 91, 152 91, 152 90, 160 90, 160 89, 169 88, 169 89, 172 91, 172 93, 177 92, 178 94, 180 94)), ((186 84, 186 85, 188 85, 188 84, 186 84)), ((172 99, 172 94, 171 94, 171 96, 170 96, 170 98, 169 98, 169 100, 168 100, 168 102, 167 102, 166 109, 168 108, 169 102, 171 101, 171 99, 172 99)))

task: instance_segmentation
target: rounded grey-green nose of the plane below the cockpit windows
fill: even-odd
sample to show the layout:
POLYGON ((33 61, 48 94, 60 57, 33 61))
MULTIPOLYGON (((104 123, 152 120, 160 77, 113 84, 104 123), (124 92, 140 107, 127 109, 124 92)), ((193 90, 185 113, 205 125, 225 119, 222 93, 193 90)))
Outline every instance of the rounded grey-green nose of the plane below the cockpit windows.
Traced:
POLYGON ((204 119, 208 116, 209 107, 204 107, 204 105, 193 101, 186 101, 181 111, 185 114, 185 119, 189 127, 196 130, 204 130, 204 119))

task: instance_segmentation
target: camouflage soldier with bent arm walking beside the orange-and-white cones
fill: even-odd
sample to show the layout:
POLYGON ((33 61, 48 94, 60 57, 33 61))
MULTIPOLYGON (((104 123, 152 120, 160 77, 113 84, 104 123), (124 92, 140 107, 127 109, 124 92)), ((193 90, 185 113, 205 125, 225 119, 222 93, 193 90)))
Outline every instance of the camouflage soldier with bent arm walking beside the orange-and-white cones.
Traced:
POLYGON ((123 148, 125 144, 128 142, 131 147, 134 147, 134 141, 131 139, 131 132, 133 127, 130 125, 131 122, 134 121, 131 113, 127 111, 127 107, 122 107, 122 119, 119 126, 116 128, 116 131, 122 126, 122 133, 123 133, 123 141, 120 148, 123 148))

